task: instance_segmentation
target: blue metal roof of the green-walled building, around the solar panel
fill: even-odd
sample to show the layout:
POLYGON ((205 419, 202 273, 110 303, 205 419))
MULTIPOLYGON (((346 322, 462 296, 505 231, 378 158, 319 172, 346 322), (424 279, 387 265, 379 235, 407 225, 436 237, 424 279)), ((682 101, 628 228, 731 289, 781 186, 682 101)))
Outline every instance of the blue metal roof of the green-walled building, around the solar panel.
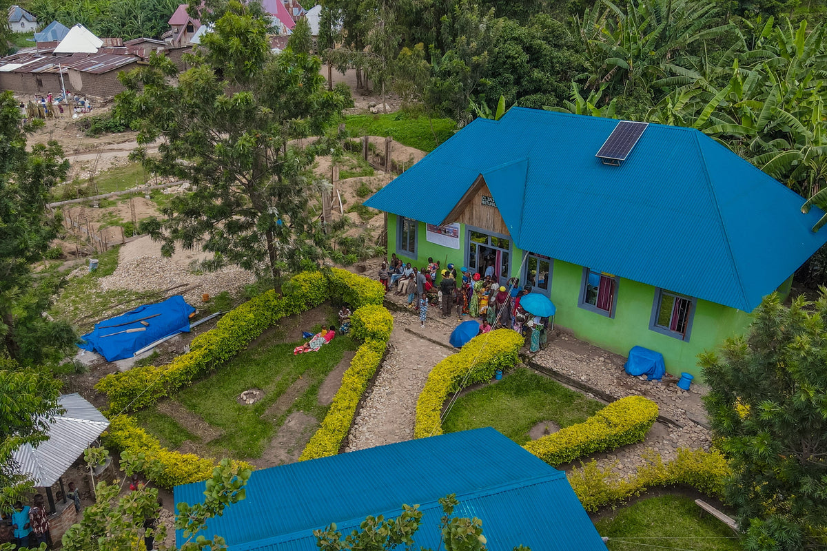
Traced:
POLYGON ((827 242, 810 230, 821 211, 801 214, 802 197, 700 131, 650 124, 621 166, 603 164, 595 153, 616 125, 512 107, 365 204, 439 224, 482 174, 520 249, 743 311, 827 242), (440 192, 410 201, 424 183, 440 192))

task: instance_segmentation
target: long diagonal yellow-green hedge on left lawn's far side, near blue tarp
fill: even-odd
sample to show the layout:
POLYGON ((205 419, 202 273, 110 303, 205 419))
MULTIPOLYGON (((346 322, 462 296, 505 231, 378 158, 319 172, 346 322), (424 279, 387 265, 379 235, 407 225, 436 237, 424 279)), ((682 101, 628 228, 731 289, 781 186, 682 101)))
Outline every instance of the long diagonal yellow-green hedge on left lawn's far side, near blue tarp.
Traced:
MULTIPOLYGON (((131 368, 126 373, 107 375, 95 389, 107 395, 112 411, 141 410, 232 359, 281 318, 322 304, 334 288, 339 296, 349 285, 370 293, 368 283, 376 283, 384 293, 384 287, 378 282, 338 272, 345 270, 334 268, 329 278, 322 272, 299 273, 284 286, 284 296, 279 297, 271 290, 227 312, 215 329, 194 338, 188 354, 178 356, 165 366, 131 368)), ((374 299, 372 294, 368 298, 374 299)))

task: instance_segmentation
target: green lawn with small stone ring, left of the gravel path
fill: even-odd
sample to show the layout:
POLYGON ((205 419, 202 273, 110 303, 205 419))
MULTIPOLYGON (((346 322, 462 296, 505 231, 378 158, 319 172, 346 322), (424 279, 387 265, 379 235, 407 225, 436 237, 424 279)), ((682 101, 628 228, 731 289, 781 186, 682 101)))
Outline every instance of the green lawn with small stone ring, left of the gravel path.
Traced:
MULTIPOLYGON (((262 339, 218 368, 210 377, 185 388, 174 397, 187 410, 198 415, 220 435, 204 443, 215 457, 258 458, 276 430, 293 411, 304 411, 317 420, 327 414, 328 406, 318 404, 318 387, 327 374, 342 361, 346 350, 355 350, 356 343, 346 336, 337 336, 318 352, 293 355, 299 342, 283 343, 276 332, 262 339), (297 383, 289 404, 278 414, 265 415, 289 388, 297 383), (251 406, 237 402, 237 397, 251 388, 261 388, 265 397, 251 406)), ((183 427, 152 408, 138 414, 141 425, 161 442, 177 448, 184 440, 199 442, 201 435, 192 435, 183 427), (183 435, 182 435, 183 431, 183 435)))

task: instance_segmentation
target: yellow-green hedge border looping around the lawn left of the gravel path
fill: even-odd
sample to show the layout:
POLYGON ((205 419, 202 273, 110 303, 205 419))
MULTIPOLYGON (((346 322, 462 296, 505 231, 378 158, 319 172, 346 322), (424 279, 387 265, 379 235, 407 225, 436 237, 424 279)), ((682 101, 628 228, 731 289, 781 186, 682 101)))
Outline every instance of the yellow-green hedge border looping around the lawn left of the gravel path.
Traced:
MULTIPOLYGON (((170 396, 179 388, 189 386, 198 376, 208 373, 218 364, 231 359, 239 350, 245 348, 284 316, 301 313, 313 306, 318 306, 331 297, 341 298, 351 307, 356 308, 353 313, 355 318, 353 335, 357 339, 367 339, 357 350, 351 361, 351 368, 345 373, 346 377, 351 371, 361 373, 364 370, 360 369, 360 363, 356 363, 356 359, 359 358, 361 363, 365 363, 368 354, 379 358, 373 367, 375 373, 375 368, 378 367, 388 339, 390 339, 390 331, 393 329, 393 316, 385 310, 384 306, 380 306, 384 302, 385 288, 377 281, 340 268, 331 268, 325 272, 297 274, 284 286, 283 297, 276 297, 275 292, 270 291, 237 306, 218 322, 215 329, 198 335, 190 345, 188 354, 179 356, 167 366, 147 366, 114 376, 109 375, 105 378, 106 382, 102 379, 98 382, 100 387, 96 385, 95 388, 108 394, 109 415, 112 415, 112 410, 116 409, 116 406, 127 410, 128 406, 135 406, 133 409, 136 409, 138 406, 152 405, 161 397, 170 396), (356 368, 354 368, 354 363, 356 363, 356 368), (135 373, 128 376, 133 371, 135 373), (148 380, 150 377, 155 377, 155 379, 150 382, 148 380), (145 399, 138 400, 139 397, 145 395, 147 396, 145 399), (127 400, 130 401, 127 402, 127 400)), ((373 362, 371 360, 367 363, 373 362)), ((351 387, 351 391, 356 389, 356 386, 351 387)), ((341 388, 340 392, 342 392, 341 388)), ((340 392, 337 392, 337 397, 340 392)), ((364 388, 358 392, 357 402, 364 388)), ((351 413, 351 420, 344 430, 344 435, 347 435, 347 430, 350 428, 352 416, 351 413)), ((324 421, 328 418, 331 418, 330 412, 324 421)), ((141 429, 136 420, 124 414, 112 416, 106 433, 106 441, 112 449, 118 452, 129 450, 135 454, 145 454, 149 460, 158 459, 162 466, 162 474, 155 482, 161 487, 170 489, 179 484, 208 479, 212 476, 216 465, 213 459, 201 458, 195 454, 181 454, 164 448, 158 439, 141 429)), ((233 460, 232 464, 253 469, 250 464, 243 461, 233 460)))

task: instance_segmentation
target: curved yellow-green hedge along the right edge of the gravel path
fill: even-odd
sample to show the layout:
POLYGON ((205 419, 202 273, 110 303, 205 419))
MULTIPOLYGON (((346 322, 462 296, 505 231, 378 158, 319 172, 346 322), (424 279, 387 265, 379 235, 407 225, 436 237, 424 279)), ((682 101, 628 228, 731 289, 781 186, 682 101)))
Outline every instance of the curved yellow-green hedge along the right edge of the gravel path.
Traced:
POLYGON ((509 329, 493 330, 471 339, 431 370, 416 405, 414 438, 441 435, 439 413, 454 392, 476 382, 490 381, 497 369, 514 367, 523 337, 509 329))

